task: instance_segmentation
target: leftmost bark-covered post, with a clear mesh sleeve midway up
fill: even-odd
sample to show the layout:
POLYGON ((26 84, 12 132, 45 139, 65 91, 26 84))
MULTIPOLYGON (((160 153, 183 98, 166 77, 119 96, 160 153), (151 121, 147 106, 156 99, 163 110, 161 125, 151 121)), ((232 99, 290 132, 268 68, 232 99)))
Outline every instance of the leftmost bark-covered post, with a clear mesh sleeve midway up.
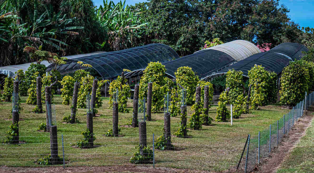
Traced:
MULTIPOLYGON (((15 94, 15 97, 19 97, 19 81, 14 81, 13 82, 13 92, 15 94)), ((12 101, 17 101, 16 104, 19 104, 19 98, 13 98, 12 101)), ((15 106, 15 105, 14 105, 15 106)), ((13 143, 14 144, 19 144, 19 108, 14 109, 12 108, 12 124, 16 125, 18 127, 17 131, 14 131, 17 136, 13 137, 13 143)))

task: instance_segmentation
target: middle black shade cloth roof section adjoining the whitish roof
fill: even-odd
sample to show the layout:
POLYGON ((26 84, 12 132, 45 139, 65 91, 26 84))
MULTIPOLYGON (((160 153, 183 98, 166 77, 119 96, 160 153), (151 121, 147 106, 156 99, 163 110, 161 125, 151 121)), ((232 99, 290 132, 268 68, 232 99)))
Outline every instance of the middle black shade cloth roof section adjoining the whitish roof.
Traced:
POLYGON ((195 75, 203 77, 232 62, 235 62, 235 59, 224 52, 204 49, 185 57, 163 62, 162 64, 165 65, 167 69, 166 73, 172 77, 175 77, 175 72, 179 67, 184 66, 191 67, 195 75))

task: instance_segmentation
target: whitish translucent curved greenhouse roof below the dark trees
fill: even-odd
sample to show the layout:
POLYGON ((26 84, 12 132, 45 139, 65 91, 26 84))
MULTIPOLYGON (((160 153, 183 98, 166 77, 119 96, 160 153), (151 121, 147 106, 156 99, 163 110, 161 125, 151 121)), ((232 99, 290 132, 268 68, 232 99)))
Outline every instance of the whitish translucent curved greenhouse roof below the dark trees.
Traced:
POLYGON ((230 55, 235 61, 241 61, 251 55, 261 52, 261 50, 257 46, 245 40, 234 40, 232 42, 227 42, 214 47, 206 48, 205 50, 208 49, 225 52, 226 54, 230 55))

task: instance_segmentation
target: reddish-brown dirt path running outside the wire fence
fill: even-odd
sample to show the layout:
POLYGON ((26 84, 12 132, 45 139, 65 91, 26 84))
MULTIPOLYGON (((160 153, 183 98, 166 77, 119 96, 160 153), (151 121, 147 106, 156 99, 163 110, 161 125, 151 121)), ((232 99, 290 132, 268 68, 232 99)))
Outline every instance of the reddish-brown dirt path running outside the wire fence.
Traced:
POLYGON ((307 115, 302 116, 295 126, 285 136, 278 148, 275 148, 271 155, 255 168, 255 172, 277 172, 281 164, 290 156, 292 149, 299 143, 300 138, 305 136, 306 129, 311 126, 314 108, 307 110, 307 115))

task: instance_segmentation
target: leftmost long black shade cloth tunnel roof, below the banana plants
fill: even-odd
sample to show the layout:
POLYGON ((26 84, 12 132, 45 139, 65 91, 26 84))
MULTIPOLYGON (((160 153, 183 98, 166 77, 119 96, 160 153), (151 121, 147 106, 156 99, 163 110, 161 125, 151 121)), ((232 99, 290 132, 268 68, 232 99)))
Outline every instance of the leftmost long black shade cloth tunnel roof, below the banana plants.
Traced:
MULTIPOLYGON (((145 68, 149 62, 166 62, 179 58, 179 55, 169 46, 154 43, 140 47, 133 47, 121 51, 105 52, 66 60, 67 64, 58 65, 59 72, 79 69, 78 61, 90 64, 104 79, 121 75, 123 69, 131 71, 145 68)), ((55 64, 47 67, 51 71, 55 64)))

